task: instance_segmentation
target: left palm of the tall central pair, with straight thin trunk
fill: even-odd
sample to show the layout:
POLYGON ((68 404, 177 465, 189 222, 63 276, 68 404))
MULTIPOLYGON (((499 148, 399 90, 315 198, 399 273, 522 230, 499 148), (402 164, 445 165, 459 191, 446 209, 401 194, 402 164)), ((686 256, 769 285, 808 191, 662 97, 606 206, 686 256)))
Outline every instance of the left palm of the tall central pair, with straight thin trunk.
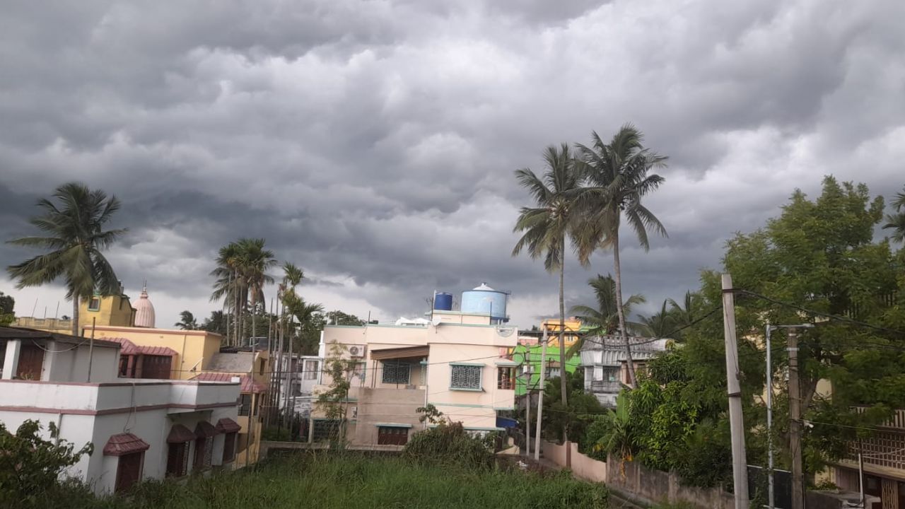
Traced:
MULTIPOLYGON (((522 232, 512 249, 518 256, 527 249, 531 258, 544 258, 544 268, 548 272, 559 272, 559 360, 566 360, 566 303, 564 296, 566 237, 574 241, 575 217, 574 201, 581 177, 576 171, 575 159, 566 143, 549 146, 544 152, 547 169, 538 177, 529 168, 518 169, 515 177, 521 187, 528 189, 535 206, 523 206, 519 210, 513 232, 522 232)), ((573 243, 574 245, 574 243, 573 243)), ((565 366, 565 364, 564 364, 565 366)), ((562 403, 567 404, 566 377, 559 378, 562 403)))

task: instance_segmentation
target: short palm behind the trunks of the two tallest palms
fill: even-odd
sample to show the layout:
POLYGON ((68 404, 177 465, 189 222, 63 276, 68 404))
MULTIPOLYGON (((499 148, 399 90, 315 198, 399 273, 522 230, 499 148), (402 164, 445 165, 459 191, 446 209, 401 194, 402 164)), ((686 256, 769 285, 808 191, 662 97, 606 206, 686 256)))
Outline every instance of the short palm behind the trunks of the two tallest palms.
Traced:
MULTIPOLYGON (((597 277, 587 280, 587 284, 594 289, 597 306, 576 305, 572 307, 571 312, 576 315, 578 320, 589 327, 586 332, 587 335, 602 336, 612 334, 619 328, 619 312, 616 310, 616 283, 613 280, 613 276, 611 274, 597 274, 597 277)), ((623 310, 626 315, 631 315, 632 308, 635 305, 645 302, 647 300, 644 299, 643 295, 639 293, 633 294, 623 303, 623 310)), ((625 325, 632 332, 642 328, 642 324, 637 322, 625 322, 625 325)), ((581 350, 584 338, 585 336, 579 336, 578 341, 569 347, 568 357, 572 357, 577 351, 581 350)))

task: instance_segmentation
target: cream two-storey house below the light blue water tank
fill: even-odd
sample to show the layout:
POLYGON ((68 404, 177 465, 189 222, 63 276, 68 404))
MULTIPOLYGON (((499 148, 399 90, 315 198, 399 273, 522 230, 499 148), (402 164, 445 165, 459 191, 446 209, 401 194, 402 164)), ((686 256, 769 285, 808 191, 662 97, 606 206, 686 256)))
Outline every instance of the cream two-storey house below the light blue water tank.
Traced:
POLYGON ((345 424, 352 445, 401 446, 420 422, 417 408, 432 404, 445 418, 475 433, 501 430, 500 411, 513 410, 516 363, 509 358, 518 333, 491 313, 434 310, 433 320, 410 325, 329 325, 321 333, 324 367, 314 397, 329 390, 332 358, 348 360, 351 388, 341 403, 345 423, 311 410, 310 439, 345 424))

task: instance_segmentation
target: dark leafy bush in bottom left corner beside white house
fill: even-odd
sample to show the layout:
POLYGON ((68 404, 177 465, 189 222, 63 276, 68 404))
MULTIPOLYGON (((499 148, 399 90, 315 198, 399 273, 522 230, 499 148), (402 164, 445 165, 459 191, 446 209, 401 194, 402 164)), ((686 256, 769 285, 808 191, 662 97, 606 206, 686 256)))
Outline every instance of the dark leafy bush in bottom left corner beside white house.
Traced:
MULTIPOLYGON (((59 436, 52 422, 48 430, 52 439, 59 436)), ((35 420, 26 420, 15 434, 0 422, 0 506, 37 504, 41 494, 57 485, 64 468, 93 451, 91 444, 76 451, 65 440, 54 444, 40 434, 41 424, 35 420)))

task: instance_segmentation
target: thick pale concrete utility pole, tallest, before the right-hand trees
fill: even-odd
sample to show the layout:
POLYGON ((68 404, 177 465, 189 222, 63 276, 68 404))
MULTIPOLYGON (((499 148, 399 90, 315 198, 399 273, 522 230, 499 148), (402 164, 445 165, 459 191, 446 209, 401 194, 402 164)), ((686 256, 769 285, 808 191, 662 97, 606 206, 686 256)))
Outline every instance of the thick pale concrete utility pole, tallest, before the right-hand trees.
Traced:
POLYGON ((736 509, 748 509, 748 461, 745 458, 745 422, 738 384, 738 341, 732 276, 723 274, 723 331, 726 336, 726 388, 729 392, 729 427, 732 433, 732 486, 736 509))

